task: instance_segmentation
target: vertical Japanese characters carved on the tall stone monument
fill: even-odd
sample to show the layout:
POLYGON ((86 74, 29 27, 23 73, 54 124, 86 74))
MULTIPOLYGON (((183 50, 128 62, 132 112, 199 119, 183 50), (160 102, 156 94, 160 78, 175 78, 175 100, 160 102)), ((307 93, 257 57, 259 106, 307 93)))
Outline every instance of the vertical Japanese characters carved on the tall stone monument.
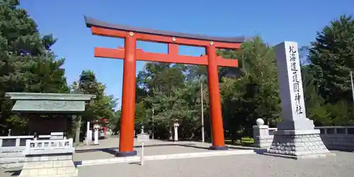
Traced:
POLYGON ((298 72, 301 72, 299 70, 299 68, 297 68, 297 62, 299 62, 297 59, 297 47, 294 47, 293 45, 290 45, 289 47, 289 55, 290 55, 290 68, 291 68, 291 72, 292 72, 292 86, 293 86, 293 89, 294 89, 294 93, 295 93, 295 97, 293 98, 295 100, 295 106, 296 106, 296 110, 295 110, 295 113, 297 115, 299 114, 302 114, 303 113, 303 110, 302 110, 302 107, 301 107, 301 104, 300 104, 300 100, 302 99, 301 98, 301 95, 300 95, 300 88, 299 88, 299 78, 298 77, 298 72))

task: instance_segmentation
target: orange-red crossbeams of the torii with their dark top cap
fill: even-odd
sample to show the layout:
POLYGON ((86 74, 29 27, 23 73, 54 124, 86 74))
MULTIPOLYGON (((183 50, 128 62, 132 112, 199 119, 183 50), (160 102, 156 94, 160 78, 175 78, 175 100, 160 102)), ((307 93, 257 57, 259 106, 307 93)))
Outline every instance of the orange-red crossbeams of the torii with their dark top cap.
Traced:
MULTIPOLYGON (((113 25, 86 16, 84 16, 84 18, 86 26, 91 28, 93 35, 125 39, 134 36, 136 41, 160 42, 168 45, 167 54, 145 52, 141 49, 136 49, 137 61, 144 62, 207 65, 209 63, 207 55, 202 55, 200 57, 179 55, 178 45, 205 47, 205 49, 212 46, 212 50, 215 50, 216 52, 216 49, 239 49, 241 43, 246 40, 245 37, 219 38, 204 35, 191 35, 187 33, 166 32, 163 30, 150 30, 147 28, 135 28, 126 25, 113 25)), ((118 49, 95 47, 94 56, 125 59, 125 47, 118 47, 118 49)), ((220 56, 216 56, 215 59, 217 60, 217 66, 219 67, 238 67, 239 65, 237 59, 224 59, 220 56)))

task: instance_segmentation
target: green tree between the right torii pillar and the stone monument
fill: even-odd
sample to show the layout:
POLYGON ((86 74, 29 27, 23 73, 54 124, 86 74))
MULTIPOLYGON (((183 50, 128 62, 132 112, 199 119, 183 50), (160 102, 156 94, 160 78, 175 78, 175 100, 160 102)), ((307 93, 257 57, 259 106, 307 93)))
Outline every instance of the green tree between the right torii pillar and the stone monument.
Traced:
POLYGON ((257 118, 268 125, 279 118, 277 69, 273 47, 265 45, 260 37, 244 42, 236 52, 221 51, 223 57, 239 59, 236 77, 222 79, 222 109, 224 127, 232 140, 250 135, 257 118))

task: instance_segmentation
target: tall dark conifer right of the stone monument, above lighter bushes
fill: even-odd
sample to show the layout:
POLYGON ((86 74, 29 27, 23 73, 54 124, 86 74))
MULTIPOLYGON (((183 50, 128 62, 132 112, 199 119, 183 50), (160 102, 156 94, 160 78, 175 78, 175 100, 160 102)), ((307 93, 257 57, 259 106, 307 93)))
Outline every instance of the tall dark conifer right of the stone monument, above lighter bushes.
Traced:
POLYGON ((309 48, 311 71, 326 102, 351 101, 349 73, 354 69, 354 21, 341 16, 316 35, 309 48))

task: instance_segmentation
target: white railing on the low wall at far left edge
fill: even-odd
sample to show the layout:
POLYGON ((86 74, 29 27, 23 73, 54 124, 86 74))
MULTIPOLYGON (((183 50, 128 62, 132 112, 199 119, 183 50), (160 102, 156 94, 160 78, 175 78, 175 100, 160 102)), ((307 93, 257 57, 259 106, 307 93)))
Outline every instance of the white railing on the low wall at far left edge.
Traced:
MULTIPOLYGON (((39 139, 49 139, 50 135, 40 135, 39 139)), ((6 151, 18 151, 24 149, 27 139, 33 139, 33 135, 24 136, 1 136, 0 153, 6 151)))

